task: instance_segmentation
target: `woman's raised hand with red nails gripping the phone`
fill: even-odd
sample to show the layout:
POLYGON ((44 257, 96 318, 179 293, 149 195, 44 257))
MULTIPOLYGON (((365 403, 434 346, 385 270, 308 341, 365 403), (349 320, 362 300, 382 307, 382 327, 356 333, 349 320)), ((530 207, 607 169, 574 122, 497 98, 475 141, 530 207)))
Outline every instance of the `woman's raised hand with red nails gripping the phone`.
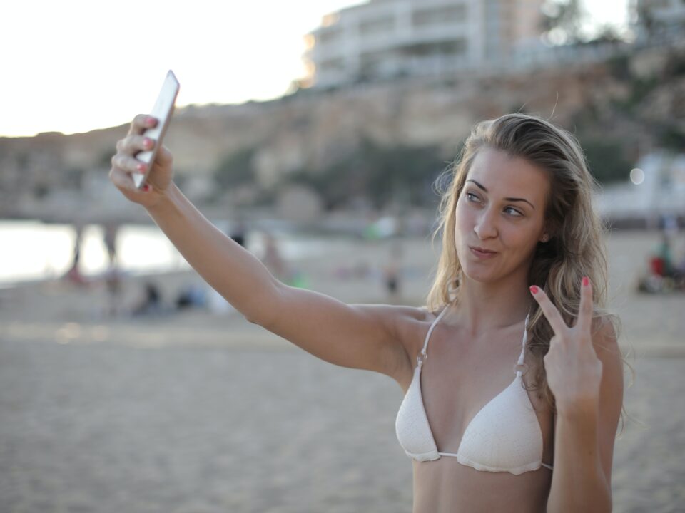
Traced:
POLYGON ((124 196, 143 207, 154 207, 166 194, 172 182, 173 157, 166 147, 159 147, 156 159, 152 162, 146 178, 146 185, 141 189, 136 187, 133 175, 145 175, 149 165, 136 158, 140 152, 153 150, 156 141, 146 138, 143 133, 158 123, 150 115, 137 115, 131 123, 131 128, 125 138, 116 143, 116 155, 112 157, 112 169, 109 178, 124 196))

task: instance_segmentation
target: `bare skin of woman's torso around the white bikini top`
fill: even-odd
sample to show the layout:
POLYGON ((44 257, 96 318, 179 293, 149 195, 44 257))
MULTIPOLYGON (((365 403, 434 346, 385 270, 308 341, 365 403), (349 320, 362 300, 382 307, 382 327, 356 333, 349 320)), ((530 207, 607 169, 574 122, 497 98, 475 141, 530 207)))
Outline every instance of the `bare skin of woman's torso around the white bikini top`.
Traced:
MULTIPOLYGON (((426 314, 400 330, 410 361, 416 364, 435 315, 426 314)), ((422 400, 430 430, 440 452, 457 452, 472 418, 514 380, 514 364, 521 351, 524 323, 482 339, 468 339, 458 327, 442 319, 435 325, 420 373, 422 400)), ((529 371, 523 379, 532 385, 536 369, 527 353, 529 371)), ((402 369, 397 381, 407 392, 414 366, 402 369)), ((542 431, 542 461, 554 460, 553 417, 537 391, 528 391, 542 431)), ((546 467, 513 475, 484 472, 461 465, 454 457, 414 465, 415 512, 544 512, 552 482, 546 467)))

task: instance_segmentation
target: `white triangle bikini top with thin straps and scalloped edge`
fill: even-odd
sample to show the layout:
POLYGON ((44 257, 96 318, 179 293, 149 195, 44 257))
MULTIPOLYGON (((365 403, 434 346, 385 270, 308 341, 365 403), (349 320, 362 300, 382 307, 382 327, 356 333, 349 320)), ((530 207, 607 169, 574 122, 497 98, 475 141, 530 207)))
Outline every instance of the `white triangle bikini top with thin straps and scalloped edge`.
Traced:
POLYGON ((457 454, 440 452, 435 445, 421 394, 421 367, 427 358, 428 339, 435 325, 447 311, 440 312, 430 326, 423 349, 417 356, 412 383, 407 390, 395 430, 397 440, 407 456, 417 461, 438 460, 453 456, 462 465, 487 472, 522 474, 537 470, 542 465, 542 430, 528 393, 522 387, 522 371, 528 329, 528 317, 523 333, 523 348, 517 363, 516 377, 511 384, 492 398, 467 426, 457 454))

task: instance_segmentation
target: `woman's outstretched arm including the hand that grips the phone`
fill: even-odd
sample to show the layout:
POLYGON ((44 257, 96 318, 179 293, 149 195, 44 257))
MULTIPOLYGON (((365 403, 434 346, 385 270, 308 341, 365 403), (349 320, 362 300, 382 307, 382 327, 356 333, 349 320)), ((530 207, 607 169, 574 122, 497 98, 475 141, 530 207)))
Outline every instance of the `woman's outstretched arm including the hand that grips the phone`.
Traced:
POLYGON ((422 312, 403 306, 348 305, 281 283, 188 201, 173 183, 172 157, 164 147, 148 175, 150 187, 136 190, 131 175, 144 167, 135 155, 154 144, 141 135, 153 123, 149 119, 136 117, 118 142, 110 177, 128 199, 146 207, 188 264, 248 321, 330 363, 405 380, 412 361, 404 341, 422 312))

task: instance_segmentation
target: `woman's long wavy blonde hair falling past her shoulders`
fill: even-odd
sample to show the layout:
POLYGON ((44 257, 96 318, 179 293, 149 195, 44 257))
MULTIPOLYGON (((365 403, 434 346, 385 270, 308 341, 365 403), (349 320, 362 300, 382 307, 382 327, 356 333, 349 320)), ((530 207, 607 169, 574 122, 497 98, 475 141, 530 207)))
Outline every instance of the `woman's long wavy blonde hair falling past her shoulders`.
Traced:
MULTIPOLYGON (((442 236, 442 251, 427 296, 427 309, 437 311, 460 301, 462 267, 453 239, 455 212, 468 171, 482 147, 524 158, 549 175, 551 187, 544 217, 551 238, 537 244, 528 284, 542 287, 564 321, 572 326, 579 311, 579 284, 583 276, 588 276, 592 281, 594 329, 609 321, 618 337, 619 318, 606 309, 608 277, 604 237, 607 230, 592 207, 592 193, 599 184, 590 174, 581 147, 572 134, 547 120, 521 113, 477 123, 454 165, 436 181, 441 200, 439 224, 433 239, 442 236)), ((537 302, 533 305, 527 349, 532 353, 537 372, 530 390, 540 390, 540 396, 554 411, 554 395, 547 385, 542 361, 554 332, 537 302)))

